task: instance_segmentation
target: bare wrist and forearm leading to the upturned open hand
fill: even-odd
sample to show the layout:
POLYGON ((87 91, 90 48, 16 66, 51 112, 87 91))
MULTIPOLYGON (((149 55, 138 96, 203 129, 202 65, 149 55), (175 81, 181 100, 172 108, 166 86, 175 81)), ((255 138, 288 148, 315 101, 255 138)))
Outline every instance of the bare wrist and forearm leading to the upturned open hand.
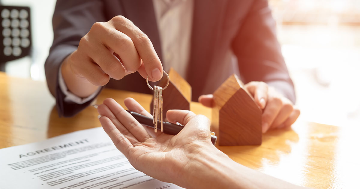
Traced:
POLYGON ((185 188, 300 188, 233 161, 216 147, 199 148, 184 168, 185 188))

